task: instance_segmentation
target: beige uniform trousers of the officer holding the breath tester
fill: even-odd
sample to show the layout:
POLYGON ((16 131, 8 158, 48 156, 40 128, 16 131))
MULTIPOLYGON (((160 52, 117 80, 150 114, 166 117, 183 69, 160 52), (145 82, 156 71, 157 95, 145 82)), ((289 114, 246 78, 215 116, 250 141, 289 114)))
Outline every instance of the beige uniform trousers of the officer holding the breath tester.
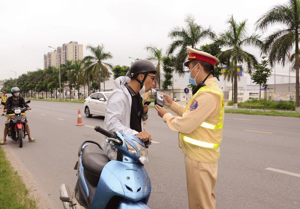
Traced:
POLYGON ((187 196, 190 209, 216 208, 214 186, 217 181, 218 163, 184 158, 187 177, 187 196))

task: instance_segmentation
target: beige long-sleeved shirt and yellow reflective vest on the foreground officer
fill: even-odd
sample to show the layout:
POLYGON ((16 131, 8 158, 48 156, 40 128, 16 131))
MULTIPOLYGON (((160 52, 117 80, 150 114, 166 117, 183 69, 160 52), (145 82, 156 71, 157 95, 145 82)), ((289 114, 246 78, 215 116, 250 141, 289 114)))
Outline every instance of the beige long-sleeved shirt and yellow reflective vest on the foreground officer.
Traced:
POLYGON ((215 78, 205 81, 204 87, 184 106, 173 102, 170 109, 177 116, 166 113, 163 121, 179 132, 179 147, 189 158, 202 162, 217 162, 220 157, 224 121, 223 91, 215 78))

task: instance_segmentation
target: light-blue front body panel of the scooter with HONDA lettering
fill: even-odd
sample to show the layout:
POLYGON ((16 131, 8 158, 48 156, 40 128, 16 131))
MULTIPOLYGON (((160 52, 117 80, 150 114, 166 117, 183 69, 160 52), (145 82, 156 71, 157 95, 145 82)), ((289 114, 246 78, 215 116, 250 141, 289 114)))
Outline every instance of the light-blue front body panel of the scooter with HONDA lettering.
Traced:
POLYGON ((150 192, 151 180, 143 165, 112 160, 102 170, 91 209, 105 208, 113 196, 147 204, 150 192))

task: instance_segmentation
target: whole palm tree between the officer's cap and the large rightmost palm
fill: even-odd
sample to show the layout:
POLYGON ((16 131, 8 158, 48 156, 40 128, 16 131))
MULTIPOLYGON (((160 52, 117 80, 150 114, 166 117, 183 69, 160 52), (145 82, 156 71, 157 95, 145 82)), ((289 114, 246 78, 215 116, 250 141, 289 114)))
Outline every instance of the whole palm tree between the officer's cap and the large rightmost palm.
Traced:
POLYGON ((246 22, 247 19, 237 23, 233 19, 232 15, 228 20, 226 20, 226 23, 229 25, 227 30, 225 30, 223 33, 220 33, 219 38, 215 39, 214 43, 212 44, 214 47, 218 48, 229 48, 218 53, 217 58, 220 60, 220 62, 223 62, 223 60, 226 62, 228 59, 230 59, 234 63, 233 108, 238 107, 237 63, 246 63, 247 72, 249 74, 252 73, 252 69, 258 64, 256 57, 253 54, 244 51, 243 47, 254 46, 260 48, 262 46, 260 35, 253 33, 252 35, 247 36, 246 22))

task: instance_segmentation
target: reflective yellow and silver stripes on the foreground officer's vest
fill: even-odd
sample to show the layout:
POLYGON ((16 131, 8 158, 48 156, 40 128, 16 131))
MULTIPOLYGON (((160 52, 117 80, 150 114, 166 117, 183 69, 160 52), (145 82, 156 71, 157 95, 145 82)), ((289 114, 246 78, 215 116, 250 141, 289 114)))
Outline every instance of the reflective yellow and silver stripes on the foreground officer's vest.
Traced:
MULTIPOLYGON (((215 81, 208 84, 208 85, 211 85, 213 83, 216 83, 215 81)), ((203 122, 200 126, 201 127, 204 127, 204 128, 207 128, 207 129, 222 129, 223 128, 223 123, 221 123, 222 121, 222 110, 224 108, 224 96, 222 94, 220 94, 218 91, 214 90, 214 89, 210 89, 210 88, 204 88, 204 87, 207 87, 208 85, 206 86, 203 86, 202 88, 200 88, 196 94, 193 95, 193 97, 190 99, 188 105, 187 105, 187 109, 185 112, 187 112, 188 110, 188 107, 192 104, 192 101, 194 98, 196 98, 198 96, 198 94, 201 92, 201 91, 210 91, 214 94, 217 94, 221 97, 221 111, 220 111, 220 118, 219 118, 219 122, 217 125, 213 125, 213 124, 210 124, 210 123, 206 123, 206 122, 203 122)), ((184 113, 182 114, 182 116, 184 115, 184 113)), ((181 137, 182 137, 182 140, 185 141, 185 142, 188 142, 190 144, 193 144, 193 145, 196 145, 196 146, 199 146, 199 147, 205 147, 205 148, 218 148, 220 144, 214 144, 214 143, 209 143, 209 142, 204 142, 204 141, 200 141, 200 140, 197 140, 197 139, 193 139, 193 138, 190 138, 190 137, 187 137, 187 136, 184 136, 183 134, 181 134, 181 137)))

